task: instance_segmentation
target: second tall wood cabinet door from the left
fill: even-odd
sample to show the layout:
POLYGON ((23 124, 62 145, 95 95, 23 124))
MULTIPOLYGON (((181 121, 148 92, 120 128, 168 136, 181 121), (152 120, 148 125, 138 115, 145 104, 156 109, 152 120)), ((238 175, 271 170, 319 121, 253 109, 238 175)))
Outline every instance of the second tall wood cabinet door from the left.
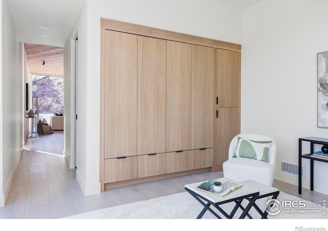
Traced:
POLYGON ((165 152, 166 40, 138 36, 138 155, 165 152))

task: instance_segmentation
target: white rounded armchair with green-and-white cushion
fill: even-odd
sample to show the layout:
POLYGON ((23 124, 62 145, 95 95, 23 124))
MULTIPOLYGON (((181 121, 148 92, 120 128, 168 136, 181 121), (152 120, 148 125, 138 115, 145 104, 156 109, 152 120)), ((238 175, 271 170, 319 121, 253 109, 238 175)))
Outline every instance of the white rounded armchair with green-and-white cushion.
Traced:
MULTIPOLYGON (((247 145, 244 146, 246 147, 244 148, 244 152, 247 152, 247 147, 250 147, 250 145, 247 142, 245 142, 245 144, 247 145)), ((238 144, 238 148, 240 148, 240 144, 238 144)), ((263 150, 262 153, 264 153, 263 150)), ((238 134, 236 137, 232 139, 230 143, 229 158, 226 162, 223 163, 223 176, 239 182, 246 181, 246 180, 254 180, 262 184, 272 186, 273 179, 275 176, 276 154, 277 154, 276 143, 272 138, 261 134, 251 134, 251 133, 238 134), (257 148, 261 149, 265 146, 265 144, 268 144, 267 148, 269 148, 269 150, 266 149, 267 152, 265 152, 265 155, 263 155, 263 157, 264 156, 266 158, 269 157, 269 160, 267 160, 268 162, 263 161, 263 159, 262 160, 251 159, 251 157, 249 158, 233 157, 237 149, 238 138, 242 138, 249 141, 272 141, 272 142, 265 142, 265 143, 256 142, 255 144, 253 142, 250 142, 254 144, 255 149, 257 148)))

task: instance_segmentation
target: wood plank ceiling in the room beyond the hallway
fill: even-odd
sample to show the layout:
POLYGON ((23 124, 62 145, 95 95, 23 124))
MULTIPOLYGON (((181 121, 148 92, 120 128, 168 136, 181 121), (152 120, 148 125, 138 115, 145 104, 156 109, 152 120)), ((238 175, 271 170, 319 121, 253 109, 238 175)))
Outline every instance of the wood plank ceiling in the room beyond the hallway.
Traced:
POLYGON ((32 74, 64 76, 64 48, 25 44, 27 61, 32 74))

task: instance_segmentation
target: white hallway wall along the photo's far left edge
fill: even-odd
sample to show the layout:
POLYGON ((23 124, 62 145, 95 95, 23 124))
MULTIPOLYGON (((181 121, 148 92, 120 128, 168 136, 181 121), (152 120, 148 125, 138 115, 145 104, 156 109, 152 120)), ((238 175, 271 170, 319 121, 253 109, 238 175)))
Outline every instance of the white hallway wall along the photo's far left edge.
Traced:
POLYGON ((4 206, 23 144, 23 44, 18 43, 7 1, 1 1, 1 4, 0 206, 4 206))

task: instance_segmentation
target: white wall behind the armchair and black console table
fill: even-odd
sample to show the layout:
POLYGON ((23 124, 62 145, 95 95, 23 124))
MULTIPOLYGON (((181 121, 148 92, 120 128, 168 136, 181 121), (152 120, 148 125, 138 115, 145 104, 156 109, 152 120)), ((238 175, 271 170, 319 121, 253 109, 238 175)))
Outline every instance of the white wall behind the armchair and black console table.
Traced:
MULTIPOLYGON (((298 138, 328 137, 317 127, 317 53, 328 51, 328 1, 267 0, 244 10, 242 20, 241 131, 271 136, 276 179, 298 185, 280 172, 280 161, 298 165, 298 138)), ((314 190, 327 194, 327 165, 314 167, 314 190)))

